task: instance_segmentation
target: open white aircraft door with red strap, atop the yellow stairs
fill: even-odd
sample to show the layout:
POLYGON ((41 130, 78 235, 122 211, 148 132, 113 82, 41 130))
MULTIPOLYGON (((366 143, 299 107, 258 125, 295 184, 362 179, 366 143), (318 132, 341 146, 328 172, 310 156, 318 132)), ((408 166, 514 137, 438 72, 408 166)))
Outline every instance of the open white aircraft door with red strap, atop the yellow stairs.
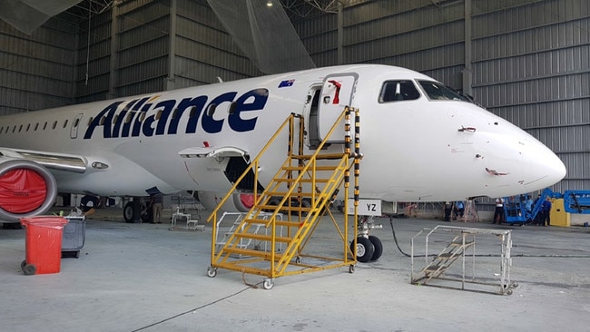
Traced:
MULTIPOLYGON (((320 101, 318 105, 318 138, 324 141, 329 129, 332 127, 340 113, 344 111, 345 106, 350 106, 354 93, 356 91, 357 73, 341 73, 329 75, 324 79, 320 92, 320 101)), ((344 132, 344 122, 341 123, 342 133, 344 132)), ((328 142, 343 142, 344 135, 335 132, 332 139, 328 142)))

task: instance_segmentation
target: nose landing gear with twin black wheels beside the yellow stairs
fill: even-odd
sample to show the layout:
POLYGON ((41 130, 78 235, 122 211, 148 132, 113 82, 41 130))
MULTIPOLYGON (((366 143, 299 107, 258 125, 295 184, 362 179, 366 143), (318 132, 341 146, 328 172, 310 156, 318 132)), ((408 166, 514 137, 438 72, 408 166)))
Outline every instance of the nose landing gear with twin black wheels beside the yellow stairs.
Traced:
MULTIPOLYGON (((373 216, 359 216, 357 228, 359 236, 357 237, 357 260, 361 263, 367 263, 371 260, 377 260, 383 254, 383 244, 381 240, 373 235, 369 235, 369 229, 380 229, 381 225, 375 225, 373 216)), ((354 241, 350 242, 350 251, 354 250, 354 241)))

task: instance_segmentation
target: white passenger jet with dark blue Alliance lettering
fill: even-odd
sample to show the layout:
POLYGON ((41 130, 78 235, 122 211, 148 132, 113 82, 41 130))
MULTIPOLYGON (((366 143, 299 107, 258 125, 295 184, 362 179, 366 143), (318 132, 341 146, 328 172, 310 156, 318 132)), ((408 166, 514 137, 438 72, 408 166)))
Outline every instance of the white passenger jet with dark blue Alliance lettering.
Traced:
MULTIPOLYGON (((57 192, 197 190, 212 209, 291 112, 303 117, 305 149, 314 151, 347 105, 362 114, 363 199, 506 197, 565 176, 543 143, 443 83, 350 64, 2 116, 0 220, 43 214, 57 192)), ((274 148, 262 158, 262 186, 285 154, 274 148)), ((238 193, 226 207, 248 208, 238 193)), ((136 220, 137 209, 128 204, 123 215, 136 220)))

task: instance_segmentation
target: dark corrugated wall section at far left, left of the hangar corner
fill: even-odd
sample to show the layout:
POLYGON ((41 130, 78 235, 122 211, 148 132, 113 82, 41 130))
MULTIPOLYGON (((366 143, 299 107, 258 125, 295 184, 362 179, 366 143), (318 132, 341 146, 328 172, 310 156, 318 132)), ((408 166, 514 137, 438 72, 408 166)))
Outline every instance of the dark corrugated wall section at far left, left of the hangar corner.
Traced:
POLYGON ((0 115, 73 103, 75 41, 57 18, 31 35, 0 20, 0 115))

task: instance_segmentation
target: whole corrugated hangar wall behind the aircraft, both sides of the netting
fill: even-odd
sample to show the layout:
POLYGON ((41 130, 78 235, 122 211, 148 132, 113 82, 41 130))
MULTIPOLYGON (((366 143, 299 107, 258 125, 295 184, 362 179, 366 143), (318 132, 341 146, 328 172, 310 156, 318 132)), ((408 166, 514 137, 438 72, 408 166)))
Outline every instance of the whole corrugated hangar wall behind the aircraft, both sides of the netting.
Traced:
POLYGON ((257 58, 240 28, 231 31, 228 22, 250 17, 262 37, 273 26, 285 38, 292 30, 304 46, 301 68, 397 65, 472 95, 564 161, 567 175, 552 190, 590 188, 585 0, 252 0, 225 18, 212 0, 74 3, 34 24, 16 17, 20 28, 3 14, 0 115, 280 71, 262 64, 285 44, 261 39, 270 51, 257 58), (261 12, 277 6, 290 24, 261 12))

